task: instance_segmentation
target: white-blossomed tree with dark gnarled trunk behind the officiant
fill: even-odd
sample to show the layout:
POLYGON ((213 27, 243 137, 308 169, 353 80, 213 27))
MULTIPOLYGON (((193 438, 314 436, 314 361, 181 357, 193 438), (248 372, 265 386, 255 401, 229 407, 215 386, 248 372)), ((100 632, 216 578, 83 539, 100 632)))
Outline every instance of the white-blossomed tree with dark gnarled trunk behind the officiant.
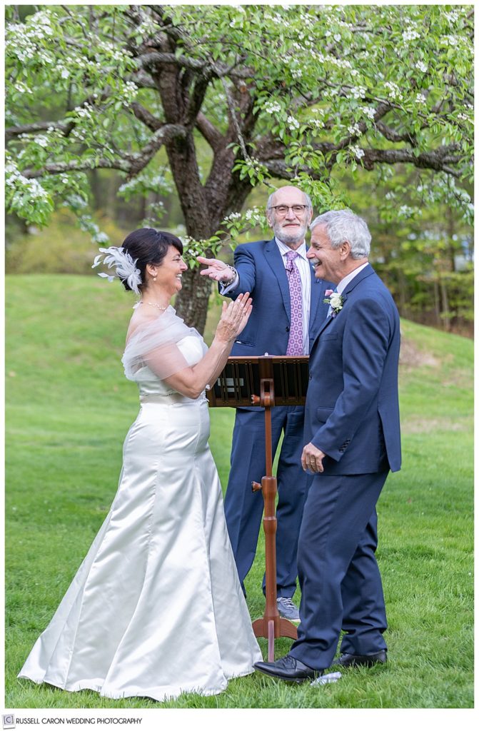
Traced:
MULTIPOLYGON (((95 168, 120 171, 126 198, 176 186, 191 257, 264 224, 241 213, 257 183, 344 205, 337 167, 373 184, 400 165, 422 202, 470 214, 472 5, 36 8, 7 8, 7 205, 26 221, 69 205, 103 243, 95 168)), ((177 300, 199 330, 209 291, 192 270, 177 300)))

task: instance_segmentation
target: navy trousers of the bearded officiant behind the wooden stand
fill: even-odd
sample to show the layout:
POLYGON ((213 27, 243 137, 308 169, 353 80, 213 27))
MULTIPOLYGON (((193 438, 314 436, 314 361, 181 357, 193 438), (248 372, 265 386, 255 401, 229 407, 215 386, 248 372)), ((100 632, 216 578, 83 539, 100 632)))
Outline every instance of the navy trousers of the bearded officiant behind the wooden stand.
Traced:
MULTIPOLYGON (((293 596, 296 588, 298 534, 303 515, 308 477, 301 469, 303 406, 271 409, 273 456, 284 435, 276 477, 276 584, 278 596, 293 596)), ((251 483, 265 476, 265 413, 236 409, 231 450, 231 469, 225 496, 225 516, 236 567, 244 593, 244 578, 252 567, 263 517, 263 493, 252 492, 251 483)), ((265 580, 263 577, 263 591, 265 580)))

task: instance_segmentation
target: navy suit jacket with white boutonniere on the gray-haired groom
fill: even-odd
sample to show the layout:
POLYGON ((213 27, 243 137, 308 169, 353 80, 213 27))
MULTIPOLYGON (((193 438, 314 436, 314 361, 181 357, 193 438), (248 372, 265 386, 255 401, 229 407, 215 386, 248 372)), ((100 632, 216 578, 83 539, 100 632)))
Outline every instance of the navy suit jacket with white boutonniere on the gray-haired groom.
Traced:
POLYGON ((397 471, 399 314, 371 265, 342 297, 312 344, 304 443, 328 455, 323 474, 397 471))

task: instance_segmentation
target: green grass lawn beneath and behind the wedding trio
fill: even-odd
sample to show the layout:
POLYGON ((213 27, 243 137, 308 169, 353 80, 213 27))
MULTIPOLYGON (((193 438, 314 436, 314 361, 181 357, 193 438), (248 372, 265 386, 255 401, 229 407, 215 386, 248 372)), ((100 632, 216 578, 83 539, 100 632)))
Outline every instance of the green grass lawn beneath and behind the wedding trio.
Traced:
MULTIPOLYGON (((81 276, 7 277, 6 708, 472 708, 473 344, 401 324, 403 469, 378 504, 389 662, 328 686, 254 673, 214 697, 159 705, 18 680, 105 518, 137 389, 121 354, 132 300, 81 276)), ((211 340, 218 308, 208 317, 211 340)), ((227 483, 232 409, 211 410, 227 483)), ((246 580, 263 614, 263 540, 246 580)), ((276 656, 291 640, 276 640, 276 656)), ((260 640, 265 653, 266 640, 260 640)))

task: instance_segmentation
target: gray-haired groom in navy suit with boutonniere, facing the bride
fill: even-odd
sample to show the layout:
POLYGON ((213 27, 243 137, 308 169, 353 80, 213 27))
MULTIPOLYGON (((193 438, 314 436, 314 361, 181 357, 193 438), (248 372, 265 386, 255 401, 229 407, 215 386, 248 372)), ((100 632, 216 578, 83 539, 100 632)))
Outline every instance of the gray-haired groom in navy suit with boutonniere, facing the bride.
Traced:
POLYGON ((386 662, 386 615, 377 567, 376 503, 401 466, 399 314, 368 263, 371 235, 351 211, 314 219, 307 257, 336 284, 309 356, 301 464, 313 474, 298 542, 301 624, 290 653, 257 662, 301 682, 333 663, 386 662))

